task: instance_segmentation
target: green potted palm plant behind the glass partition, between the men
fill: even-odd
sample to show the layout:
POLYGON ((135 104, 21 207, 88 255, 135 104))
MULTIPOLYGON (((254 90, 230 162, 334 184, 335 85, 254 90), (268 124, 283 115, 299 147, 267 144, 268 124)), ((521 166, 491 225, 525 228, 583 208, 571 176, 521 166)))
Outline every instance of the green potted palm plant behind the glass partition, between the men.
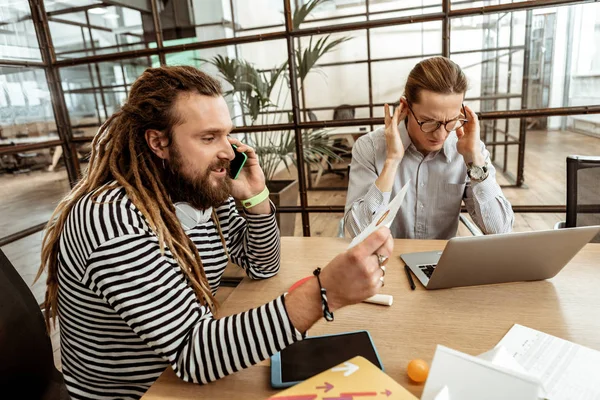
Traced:
MULTIPOLYGON (((325 1, 328 0, 311 0, 297 8, 293 15, 294 28, 298 28, 310 12, 325 1)), ((297 90, 302 90, 306 77, 311 70, 314 70, 323 55, 350 39, 343 37, 331 40, 328 35, 313 42, 311 37, 305 49, 297 49, 295 53, 296 76, 299 80, 299 85, 296 85, 297 90)), ((287 60, 266 71, 258 70, 243 59, 233 59, 228 56, 219 55, 202 61, 216 67, 221 78, 231 86, 225 95, 231 95, 239 102, 244 122, 247 125, 276 124, 283 122, 283 119, 287 119, 285 122, 291 121, 291 114, 272 112, 276 111, 280 105, 285 104, 287 96, 290 95, 289 90, 283 90, 290 86, 287 60), (277 93, 276 96, 274 96, 275 93, 277 93), (282 93, 285 93, 283 99, 282 93)), ((304 131, 302 135, 303 161, 308 166, 309 177, 311 166, 318 166, 324 156, 328 156, 329 160, 340 160, 335 153, 340 149, 333 146, 327 136, 327 130, 304 131)), ((253 132, 246 134, 244 141, 256 149, 260 165, 265 173, 267 187, 271 192, 270 198, 275 206, 297 205, 298 181, 275 179, 275 175, 281 170, 282 165, 288 171, 292 165, 297 165, 294 133, 291 131, 253 132)), ((278 214, 277 222, 283 236, 294 234, 295 219, 296 217, 292 213, 278 214)))

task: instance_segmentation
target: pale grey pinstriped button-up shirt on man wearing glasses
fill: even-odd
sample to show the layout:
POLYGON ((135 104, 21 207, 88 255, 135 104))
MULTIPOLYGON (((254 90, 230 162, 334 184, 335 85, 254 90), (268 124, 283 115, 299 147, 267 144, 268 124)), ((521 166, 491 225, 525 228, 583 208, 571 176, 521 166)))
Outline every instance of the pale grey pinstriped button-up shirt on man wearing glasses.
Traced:
POLYGON ((398 129, 404 144, 404 158, 398 166, 391 192, 381 192, 375 181, 386 158, 384 129, 381 127, 364 135, 352 148, 344 222, 353 237, 371 223, 373 216, 387 206, 390 198, 409 180, 408 192, 391 226, 395 238, 450 239, 456 236, 462 201, 483 233, 512 230, 514 214, 496 182, 490 153, 481 142, 489 176, 482 182, 471 182, 464 159, 456 150, 458 138, 454 132, 440 151, 423 156, 401 123, 398 129))

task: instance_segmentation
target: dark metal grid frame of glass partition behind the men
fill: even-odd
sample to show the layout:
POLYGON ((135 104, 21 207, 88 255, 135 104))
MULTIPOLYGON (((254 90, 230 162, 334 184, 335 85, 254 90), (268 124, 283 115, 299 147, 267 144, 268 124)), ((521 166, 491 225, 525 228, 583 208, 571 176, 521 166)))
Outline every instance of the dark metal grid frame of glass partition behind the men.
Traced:
MULTIPOLYGON (((38 44, 40 47, 40 51, 42 54, 42 62, 36 61, 15 61, 15 60, 0 60, 0 66, 22 66, 22 67, 37 67, 41 68, 46 73, 46 79, 48 81, 48 87, 50 91, 50 95, 52 98, 53 111, 55 115, 57 130, 59 134, 60 140, 58 141, 50 141, 45 143, 39 143, 35 145, 18 145, 11 146, 10 148, 4 148, 0 150, 0 154, 9 154, 20 151, 32 150, 33 148, 44 148, 55 145, 61 145, 64 150, 65 157, 65 165, 67 168, 67 173, 69 177, 69 181, 73 186, 80 177, 80 168, 78 165, 77 155, 75 151, 75 146, 77 143, 89 141, 90 138, 85 137, 73 137, 73 128, 76 126, 72 126, 69 119, 69 114, 67 112, 66 103, 65 103, 65 93, 62 89, 62 85, 60 82, 60 74, 59 69, 61 67, 75 66, 75 65, 88 65, 96 64, 98 62, 108 62, 108 61, 123 61, 125 59, 131 58, 139 58, 139 57, 149 57, 150 56, 158 56, 160 64, 166 65, 166 55, 170 53, 177 53, 188 50, 197 50, 197 49, 205 49, 219 46, 230 46, 230 45, 239 45, 244 43, 255 43, 255 42, 266 42, 272 40, 285 40, 287 45, 287 56, 288 56, 288 65, 291 79, 291 94, 292 94, 292 115, 293 121, 290 123, 284 124, 276 124, 276 125, 267 125, 267 126, 249 126, 249 127, 239 127, 236 128, 236 132, 259 132, 259 131, 275 131, 275 130, 293 130, 296 138, 296 156, 298 159, 302 159, 303 147, 302 147, 302 135, 301 132, 303 129, 314 129, 314 128, 327 128, 327 127, 337 127, 337 126, 358 126, 358 125, 368 125, 373 128, 374 125, 383 124, 383 118, 374 118, 373 117, 373 109, 379 104, 373 104, 373 92, 372 92, 372 79, 371 79, 371 65, 374 62, 381 61, 392 61, 396 58, 390 59, 372 59, 371 58, 371 46, 370 46, 370 30, 381 27, 389 27, 396 25, 405 25, 405 24, 414 24, 414 23, 422 23, 422 22, 430 22, 430 21, 441 21, 442 22, 442 55, 449 57, 451 54, 463 54, 465 52, 456 52, 450 53, 450 24, 451 19, 459 18, 459 17, 467 17, 467 16, 478 16, 484 14, 495 14, 501 12, 513 12, 513 11, 522 11, 522 10, 533 10, 537 8, 548 8, 555 6, 565 6, 565 5, 574 5, 574 4, 585 4, 585 3, 594 3, 597 0, 531 0, 531 1, 522 1, 518 3, 508 3, 508 4, 500 4, 494 6, 484 6, 484 7, 471 7, 464 9, 453 9, 452 5, 457 4, 465 4, 469 3, 468 1, 454 1, 451 3, 450 0, 441 0, 441 12, 435 12, 430 14, 422 14, 415 16, 404 16, 404 17, 396 17, 396 18, 386 18, 386 19, 371 19, 370 17, 373 15, 384 14, 384 12, 373 12, 371 13, 369 10, 369 0, 365 0, 366 12, 356 15, 348 15, 344 16, 344 18, 353 18, 353 17, 365 17, 366 21, 354 22, 354 23, 343 23, 338 25, 325 25, 320 27, 313 28, 303 28, 303 29, 293 29, 292 25, 292 7, 291 0, 282 0, 284 5, 284 17, 285 24, 282 26, 281 31, 277 32, 269 32, 264 34, 255 34, 248 36, 239 36, 235 34, 236 25, 235 25, 235 10, 232 7, 232 26, 234 29, 234 35, 232 38, 227 39, 218 39, 218 40, 210 40, 204 42, 197 42, 192 44, 184 44, 184 45, 175 45, 175 46, 165 46, 163 43, 162 37, 162 29, 160 23, 160 16, 158 13, 158 0, 150 0, 151 5, 151 13, 153 18, 154 25, 154 33, 156 36, 156 47, 149 48, 146 43, 146 48, 140 50, 130 50, 123 51, 112 54, 102 54, 102 55, 92 55, 85 56, 74 59, 65 59, 65 60, 57 60, 57 54, 52 44, 52 36, 50 34, 50 29, 48 27, 48 20, 52 18, 56 18, 56 16, 61 14, 66 14, 70 12, 79 12, 83 11, 87 14, 87 10, 89 8, 98 7, 98 5, 94 6, 83 6, 77 7, 73 9, 59 10, 50 13, 46 13, 44 7, 43 0, 28 0, 31 8, 31 18, 33 20, 36 36, 38 38, 38 44), (369 104, 361 105, 369 108, 369 118, 363 119, 355 119, 355 120, 345 120, 345 121, 310 121, 310 122, 302 122, 301 112, 305 112, 305 109, 300 108, 300 99, 298 98, 297 82, 293 77, 295 76, 295 58, 294 58, 294 48, 296 46, 295 39, 311 36, 311 35, 322 35, 322 34, 330 34, 330 33, 339 33, 339 32, 350 32, 355 30, 365 30, 367 34, 367 59, 366 60, 358 60, 358 61, 349 61, 349 62, 340 62, 340 63, 330 63, 325 64, 323 66, 334 66, 334 65, 346 65, 346 64, 356 64, 356 63, 367 63, 367 68, 369 71, 369 104)), ((106 6, 115 5, 110 0, 104 0, 106 6)), ((233 6, 233 1, 231 1, 231 5, 233 6)), ((119 4, 123 6, 122 4, 119 4)), ((139 10, 143 12, 147 12, 147 10, 139 10)), ((406 11, 405 9, 397 9, 397 10, 389 10, 385 13, 406 11)), ((530 14, 530 13, 528 13, 530 14)), ((315 21, 307 21, 308 22, 326 22, 330 20, 341 19, 338 17, 330 17, 330 18, 321 18, 315 21)), ((89 26, 89 19, 87 19, 87 28, 92 29, 89 26)), ((262 27, 266 28, 266 27, 262 27)), ((83 29, 83 27, 82 27, 83 29)), ((258 29, 258 28, 256 28, 258 29)), ((245 30, 255 30, 252 29, 240 29, 239 31, 245 30)), ((526 41, 527 43, 527 41, 526 41)), ((510 46, 509 46, 510 47, 510 46)), ((525 46, 527 47, 527 45, 525 46)), ((92 51, 93 46, 92 46, 92 51)), ((527 48, 524 49, 527 52, 527 48)), ((470 52, 481 52, 481 51, 490 51, 490 49, 479 49, 473 50, 470 52)), ((527 53, 526 53, 527 55, 527 53)), ((422 57, 422 55, 415 55, 414 57, 422 57)), ((527 57, 525 57, 525 62, 527 62, 527 57)), ((96 64, 97 68, 97 64, 96 64)), ((526 69, 524 68, 524 71, 526 69)), ((98 74, 99 76, 99 74, 98 74)), ((527 89, 527 78, 524 74, 523 79, 523 92, 522 94, 526 96, 527 89)), ((106 88, 99 82, 100 85, 93 86, 90 90, 99 90, 101 93, 106 88)), ((126 85, 125 85, 126 87, 126 85)), ((104 96, 101 96, 103 99, 104 96)), ((483 99, 483 96, 481 98, 483 99)), ((522 99, 523 100, 523 99, 522 99)), ((526 102, 522 101, 522 104, 526 106, 526 102)), ((325 108, 325 107, 324 107, 325 108)), ((329 108, 325 108, 329 109, 329 108)), ((330 109, 333 109, 331 107, 330 109)), ((576 106, 576 107, 561 107, 561 108, 545 108, 545 109, 526 109, 522 107, 521 110, 509 110, 509 111, 492 111, 492 112, 482 112, 479 114, 479 118, 481 120, 498 120, 498 119, 510 119, 510 118, 520 118, 520 132, 517 140, 508 140, 504 141, 493 141, 492 145, 501 145, 506 146, 509 144, 515 144, 519 146, 519 157, 518 157, 518 171, 517 177, 515 178, 515 185, 520 186, 523 183, 523 167, 524 167, 524 156, 525 156, 525 136, 526 136, 526 125, 525 118, 527 117, 548 117, 548 116, 568 116, 568 115, 580 115, 580 114, 598 114, 600 113, 600 105, 590 105, 590 106, 576 106)), ((84 127, 85 125, 81 125, 84 127)), ((496 126, 494 126, 497 128, 496 126)), ((498 128, 499 129, 499 128, 498 128)), ((300 206, 299 207, 286 207, 281 208, 278 211, 282 213, 300 213, 302 215, 302 228, 303 234, 305 236, 310 236, 310 223, 309 223, 309 214, 310 213, 340 213, 344 212, 343 206, 309 206, 307 199, 307 187, 306 187, 306 169, 303 163, 299 164, 298 168, 298 181, 300 186, 300 206)), ((308 180, 310 182, 310 180, 308 180)), ((515 212, 541 212, 541 213, 564 213, 566 210, 566 206, 562 205, 528 205, 528 206, 514 206, 515 212)), ((17 232, 16 234, 11 235, 11 237, 22 237, 21 234, 33 233, 32 229, 41 230, 42 225, 37 225, 35 227, 31 227, 22 232, 17 232)), ((9 238, 9 237, 7 237, 9 238)), ((4 238, 4 239, 7 239, 4 238)), ((4 239, 0 239, 0 243, 6 244, 4 239)))

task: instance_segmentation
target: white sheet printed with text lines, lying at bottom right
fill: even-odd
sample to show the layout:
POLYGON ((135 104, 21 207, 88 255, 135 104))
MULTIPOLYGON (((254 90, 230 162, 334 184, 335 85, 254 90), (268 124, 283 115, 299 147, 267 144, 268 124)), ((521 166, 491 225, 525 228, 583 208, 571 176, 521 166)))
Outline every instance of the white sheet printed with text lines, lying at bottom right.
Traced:
POLYGON ((600 352, 515 324, 500 340, 552 400, 600 398, 600 352))

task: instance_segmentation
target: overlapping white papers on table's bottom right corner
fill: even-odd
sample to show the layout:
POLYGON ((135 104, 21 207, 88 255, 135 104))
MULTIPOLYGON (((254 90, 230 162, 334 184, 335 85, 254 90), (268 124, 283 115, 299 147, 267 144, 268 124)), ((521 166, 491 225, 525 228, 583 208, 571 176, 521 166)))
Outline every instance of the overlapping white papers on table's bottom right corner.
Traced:
POLYGON ((478 357, 438 346, 422 399, 600 399, 600 352, 515 324, 478 357))

